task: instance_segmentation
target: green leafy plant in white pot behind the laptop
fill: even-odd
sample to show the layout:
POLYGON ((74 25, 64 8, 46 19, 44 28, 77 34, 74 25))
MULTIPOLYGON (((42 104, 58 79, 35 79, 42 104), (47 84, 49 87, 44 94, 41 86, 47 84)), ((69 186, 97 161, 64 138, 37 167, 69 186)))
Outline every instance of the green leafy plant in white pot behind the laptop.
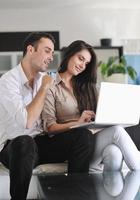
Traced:
POLYGON ((99 62, 100 72, 105 81, 126 83, 128 76, 135 80, 137 72, 127 64, 124 56, 109 57, 107 62, 99 62))

